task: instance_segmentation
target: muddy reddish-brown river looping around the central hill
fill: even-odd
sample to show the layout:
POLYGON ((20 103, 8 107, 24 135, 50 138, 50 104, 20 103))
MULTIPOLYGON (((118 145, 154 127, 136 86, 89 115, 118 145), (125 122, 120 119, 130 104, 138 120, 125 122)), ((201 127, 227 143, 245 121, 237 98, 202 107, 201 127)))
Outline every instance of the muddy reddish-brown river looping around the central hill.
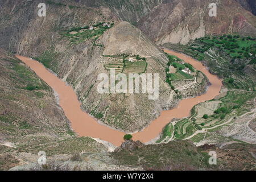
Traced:
MULTIPOLYGON (((207 68, 205 68, 199 61, 167 49, 164 49, 164 52, 175 55, 180 59, 183 59, 185 62, 192 64, 194 68, 203 72, 204 75, 208 77, 211 85, 205 94, 182 100, 175 109, 162 111, 160 117, 152 121, 143 131, 133 134, 134 140, 149 142, 150 140, 158 137, 163 127, 166 126, 173 118, 188 117, 194 105, 199 104, 200 102, 212 100, 220 93, 222 81, 218 79, 217 76, 210 74, 207 68)), ((49 72, 43 64, 38 61, 19 55, 16 55, 16 57, 28 65, 36 75, 42 78, 42 80, 44 80, 59 94, 59 104, 63 108, 69 121, 71 121, 73 130, 79 134, 79 136, 100 138, 113 143, 115 146, 119 146, 123 142, 123 135, 125 135, 125 133, 111 129, 108 126, 101 125, 94 118, 90 117, 89 114, 81 110, 81 104, 77 100, 76 93, 71 86, 67 86, 65 82, 61 81, 60 78, 49 72)))

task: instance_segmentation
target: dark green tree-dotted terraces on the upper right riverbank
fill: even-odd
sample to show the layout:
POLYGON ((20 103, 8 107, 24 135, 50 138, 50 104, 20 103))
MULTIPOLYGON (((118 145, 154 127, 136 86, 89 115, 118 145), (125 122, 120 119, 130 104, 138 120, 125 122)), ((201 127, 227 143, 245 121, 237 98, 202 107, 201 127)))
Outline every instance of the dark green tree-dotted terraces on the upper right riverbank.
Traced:
POLYGON ((188 46, 164 44, 167 48, 204 60, 212 73, 224 78, 228 89, 243 90, 255 90, 255 76, 254 79, 249 76, 256 75, 255 45, 255 38, 237 35, 207 36, 188 46))

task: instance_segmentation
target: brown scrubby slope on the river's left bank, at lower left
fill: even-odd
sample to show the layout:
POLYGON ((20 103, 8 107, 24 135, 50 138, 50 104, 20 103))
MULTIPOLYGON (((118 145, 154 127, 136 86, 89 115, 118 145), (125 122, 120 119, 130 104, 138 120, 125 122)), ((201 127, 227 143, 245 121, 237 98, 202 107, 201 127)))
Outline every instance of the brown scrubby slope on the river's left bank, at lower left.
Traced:
POLYGON ((50 156, 107 151, 91 138, 75 137, 53 90, 3 49, 0 90, 0 170, 37 160, 42 150, 50 156))

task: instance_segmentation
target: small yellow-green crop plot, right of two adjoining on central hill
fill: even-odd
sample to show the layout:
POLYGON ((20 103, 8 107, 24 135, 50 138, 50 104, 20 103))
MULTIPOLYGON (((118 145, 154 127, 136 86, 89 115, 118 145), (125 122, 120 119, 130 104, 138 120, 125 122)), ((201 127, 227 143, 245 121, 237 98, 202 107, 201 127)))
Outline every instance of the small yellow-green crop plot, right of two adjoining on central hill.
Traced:
POLYGON ((123 73, 144 73, 146 72, 146 68, 147 68, 146 61, 136 61, 136 62, 125 61, 125 67, 123 68, 123 73))

